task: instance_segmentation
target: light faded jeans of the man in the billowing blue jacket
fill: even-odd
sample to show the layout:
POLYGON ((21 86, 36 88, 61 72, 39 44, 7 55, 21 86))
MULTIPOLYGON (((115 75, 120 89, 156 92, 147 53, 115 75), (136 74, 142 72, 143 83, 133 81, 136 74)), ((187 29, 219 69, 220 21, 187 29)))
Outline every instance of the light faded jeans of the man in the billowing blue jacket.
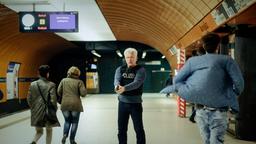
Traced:
POLYGON ((196 110, 196 122, 204 144, 223 144, 227 130, 227 112, 196 110))

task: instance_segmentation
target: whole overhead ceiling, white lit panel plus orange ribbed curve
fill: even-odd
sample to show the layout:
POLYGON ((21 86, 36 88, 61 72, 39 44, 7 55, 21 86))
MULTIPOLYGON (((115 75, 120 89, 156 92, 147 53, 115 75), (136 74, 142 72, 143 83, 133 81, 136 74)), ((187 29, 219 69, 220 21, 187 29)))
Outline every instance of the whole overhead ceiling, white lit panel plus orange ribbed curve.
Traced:
MULTIPOLYGON (((32 3, 0 0, 15 11, 32 10, 32 3), (13 2, 13 3, 11 3, 13 2)), ((176 67, 168 49, 198 24, 222 0, 40 0, 36 11, 79 11, 79 33, 58 33, 73 41, 134 41, 149 45, 176 67), (106 21, 105 21, 105 19, 106 21), (111 32, 112 31, 112 32, 111 32), (87 40, 85 40, 87 39, 87 40)))

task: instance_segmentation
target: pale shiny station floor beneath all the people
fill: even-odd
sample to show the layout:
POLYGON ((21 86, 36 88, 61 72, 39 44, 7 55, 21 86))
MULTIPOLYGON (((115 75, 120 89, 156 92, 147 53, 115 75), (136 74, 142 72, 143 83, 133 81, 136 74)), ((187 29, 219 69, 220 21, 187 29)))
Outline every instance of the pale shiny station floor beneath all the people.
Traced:
MULTIPOLYGON (((176 115, 176 101, 161 94, 144 94, 144 127, 147 144, 201 144, 196 124, 176 115)), ((76 136, 78 144, 118 144, 117 98, 112 94, 90 95, 83 99, 85 112, 81 114, 76 136)), ((188 108, 188 112, 190 112, 188 108)), ((29 144, 34 135, 30 127, 29 111, 0 119, 1 144, 29 144)), ((58 111, 63 125, 63 117, 58 111)), ((52 144, 59 144, 62 127, 54 128, 52 144)), ((128 144, 135 144, 132 122, 129 124, 128 144)), ((45 144, 43 136, 38 144, 45 144)), ((225 144, 256 144, 225 136, 225 144)))

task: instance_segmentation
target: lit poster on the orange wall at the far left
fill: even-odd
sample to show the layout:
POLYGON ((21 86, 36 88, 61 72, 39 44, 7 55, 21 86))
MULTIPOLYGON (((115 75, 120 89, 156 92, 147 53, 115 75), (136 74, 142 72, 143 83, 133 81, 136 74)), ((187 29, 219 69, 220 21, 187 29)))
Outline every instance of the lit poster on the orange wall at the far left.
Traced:
POLYGON ((7 99, 14 99, 19 97, 19 68, 20 63, 9 62, 6 74, 7 99))

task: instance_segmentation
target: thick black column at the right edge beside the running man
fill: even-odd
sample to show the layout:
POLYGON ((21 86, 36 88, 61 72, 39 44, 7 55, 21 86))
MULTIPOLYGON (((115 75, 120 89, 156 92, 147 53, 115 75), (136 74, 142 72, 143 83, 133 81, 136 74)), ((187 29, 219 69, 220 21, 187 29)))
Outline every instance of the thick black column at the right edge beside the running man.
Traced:
POLYGON ((239 27, 235 38, 235 60, 245 80, 239 96, 240 112, 236 119, 236 135, 240 139, 256 140, 256 28, 239 27))

